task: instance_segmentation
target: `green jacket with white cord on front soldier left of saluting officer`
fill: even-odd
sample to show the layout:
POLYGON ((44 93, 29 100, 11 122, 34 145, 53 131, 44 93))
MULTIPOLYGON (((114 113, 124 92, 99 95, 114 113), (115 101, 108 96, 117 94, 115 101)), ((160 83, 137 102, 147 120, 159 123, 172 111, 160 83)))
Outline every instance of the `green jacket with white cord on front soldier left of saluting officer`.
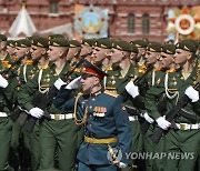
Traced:
MULTIPOLYGON (((40 97, 37 98, 37 103, 41 102, 42 95, 46 95, 49 89, 53 87, 54 81, 62 77, 67 71, 69 71, 69 63, 64 66, 60 74, 56 73, 54 66, 41 69, 31 80, 21 87, 18 94, 18 102, 20 105, 27 110, 34 108, 33 97, 40 97)), ((52 114, 61 113, 61 111, 54 108, 52 103, 49 104, 47 110, 52 114)))

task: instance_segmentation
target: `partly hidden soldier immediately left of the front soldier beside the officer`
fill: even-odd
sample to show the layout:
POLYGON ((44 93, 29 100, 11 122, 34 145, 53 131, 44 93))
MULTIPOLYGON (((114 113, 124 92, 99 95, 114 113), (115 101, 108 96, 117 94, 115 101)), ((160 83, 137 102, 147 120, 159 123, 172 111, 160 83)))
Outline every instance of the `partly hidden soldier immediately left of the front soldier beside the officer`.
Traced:
MULTIPOLYGON (((33 79, 33 77, 39 72, 40 69, 46 68, 49 64, 49 60, 47 57, 48 47, 49 47, 48 39, 42 37, 32 38, 31 49, 30 49, 31 60, 26 61, 23 66, 23 79, 26 80, 26 82, 28 80, 33 79)), ((39 122, 36 123, 32 132, 28 132, 24 130, 23 133, 24 133, 24 138, 28 138, 24 140, 26 147, 27 148, 29 147, 29 150, 31 152, 31 169, 37 170, 40 163, 39 122)))

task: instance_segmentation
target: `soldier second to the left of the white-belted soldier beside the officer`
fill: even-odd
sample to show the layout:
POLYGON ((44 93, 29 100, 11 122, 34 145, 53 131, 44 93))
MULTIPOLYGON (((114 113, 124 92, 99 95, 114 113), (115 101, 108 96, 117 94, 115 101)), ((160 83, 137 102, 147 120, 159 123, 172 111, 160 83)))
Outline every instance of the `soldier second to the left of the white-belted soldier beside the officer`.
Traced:
MULTIPOLYGON (((32 79, 34 72, 37 72, 37 66, 34 64, 34 62, 31 60, 31 57, 30 57, 30 49, 31 49, 30 40, 20 39, 16 41, 14 47, 16 49, 13 52, 14 54, 13 59, 14 61, 18 61, 16 66, 17 73, 16 73, 16 77, 11 80, 9 86, 13 90, 13 103, 14 103, 14 107, 17 108, 14 110, 16 112, 20 108, 17 100, 20 87, 23 83, 26 83, 27 80, 32 79)), ((21 120, 22 115, 27 117, 26 113, 21 113, 19 117, 19 120, 21 120)), ((29 152, 30 141, 27 141, 28 134, 26 134, 24 132, 22 133, 21 129, 22 129, 22 125, 17 120, 17 122, 14 122, 12 127, 11 147, 14 149, 14 153, 19 158, 20 168, 29 170, 31 167, 30 152, 29 152), (21 144, 19 144, 20 142, 21 144)))

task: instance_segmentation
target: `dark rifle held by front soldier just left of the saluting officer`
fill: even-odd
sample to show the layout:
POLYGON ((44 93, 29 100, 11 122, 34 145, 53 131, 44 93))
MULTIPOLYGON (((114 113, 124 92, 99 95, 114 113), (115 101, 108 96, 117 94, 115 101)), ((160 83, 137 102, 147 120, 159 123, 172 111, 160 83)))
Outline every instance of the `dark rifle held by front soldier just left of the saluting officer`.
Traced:
MULTIPOLYGON (((80 60, 80 61, 74 66, 74 68, 73 68, 72 70, 69 70, 69 71, 63 76, 63 78, 61 78, 61 79, 64 79, 64 78, 68 79, 68 78, 73 73, 73 71, 74 71, 80 64, 82 64, 83 62, 84 62, 84 59, 80 60)), ((38 107, 38 108, 40 108, 41 110, 44 111, 44 117, 46 117, 46 118, 49 118, 49 119, 50 119, 50 114, 47 112, 46 108, 47 108, 47 105, 48 105, 49 103, 52 102, 52 99, 57 95, 57 93, 58 93, 57 88, 56 88, 54 86, 52 86, 52 87, 50 88, 49 92, 48 92, 46 95, 43 95, 41 102, 36 104, 36 107, 38 107)), ((30 117, 29 120, 28 120, 28 122, 24 123, 24 130, 27 130, 28 132, 31 132, 31 131, 33 130, 33 128, 34 128, 34 124, 36 124, 37 120, 38 120, 38 119, 34 118, 34 117, 30 117)))

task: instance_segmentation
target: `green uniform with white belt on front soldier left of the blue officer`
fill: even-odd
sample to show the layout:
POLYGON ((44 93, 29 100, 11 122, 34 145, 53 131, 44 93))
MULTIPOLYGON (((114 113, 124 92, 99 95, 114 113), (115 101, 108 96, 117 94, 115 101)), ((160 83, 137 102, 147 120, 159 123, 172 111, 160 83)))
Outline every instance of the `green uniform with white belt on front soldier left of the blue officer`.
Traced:
MULTIPOLYGON (((62 77, 69 70, 69 64, 63 68, 60 74, 54 68, 40 70, 38 76, 22 86, 19 93, 19 102, 27 110, 34 108, 31 95, 44 94, 53 86, 56 79, 62 77)), ((58 148, 59 168, 70 171, 74 167, 77 151, 77 125, 72 120, 72 111, 63 113, 53 104, 49 104, 47 111, 51 119, 42 119, 40 123, 40 169, 54 168, 54 151, 58 148), (66 160, 67 159, 67 160, 66 160)))

